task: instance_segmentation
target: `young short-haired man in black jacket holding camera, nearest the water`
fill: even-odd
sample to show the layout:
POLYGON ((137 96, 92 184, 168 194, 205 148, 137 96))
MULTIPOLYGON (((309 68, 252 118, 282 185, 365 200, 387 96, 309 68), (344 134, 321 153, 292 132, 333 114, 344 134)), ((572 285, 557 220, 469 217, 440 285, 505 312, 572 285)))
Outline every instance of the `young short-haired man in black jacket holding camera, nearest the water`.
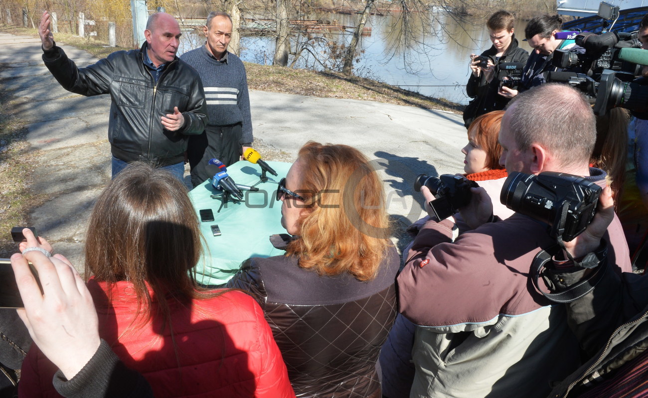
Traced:
POLYGON ((472 74, 466 85, 466 92, 474 99, 463 112, 466 128, 477 116, 491 111, 500 111, 508 104, 509 98, 498 95, 500 89, 500 76, 497 76, 498 65, 505 62, 525 63, 529 58, 526 50, 518 47, 518 40, 513 34, 514 22, 515 17, 510 12, 498 11, 492 14, 486 23, 492 46, 480 56, 487 58, 486 65, 481 63, 483 58, 480 60, 476 54, 470 54, 472 74))

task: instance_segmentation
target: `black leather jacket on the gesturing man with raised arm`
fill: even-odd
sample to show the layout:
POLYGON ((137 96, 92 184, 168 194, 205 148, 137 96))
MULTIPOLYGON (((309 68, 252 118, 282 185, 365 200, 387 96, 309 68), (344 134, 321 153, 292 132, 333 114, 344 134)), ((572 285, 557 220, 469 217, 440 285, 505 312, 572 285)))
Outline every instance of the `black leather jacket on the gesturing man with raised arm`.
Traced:
POLYGON ((93 96, 110 94, 108 140, 117 159, 148 160, 159 166, 184 160, 187 135, 200 134, 207 124, 205 93, 198 72, 176 57, 156 84, 143 63, 146 42, 139 50, 117 51, 85 68, 77 68, 54 46, 43 54, 45 66, 67 91, 93 96), (161 117, 174 107, 185 118, 178 131, 168 131, 161 117))

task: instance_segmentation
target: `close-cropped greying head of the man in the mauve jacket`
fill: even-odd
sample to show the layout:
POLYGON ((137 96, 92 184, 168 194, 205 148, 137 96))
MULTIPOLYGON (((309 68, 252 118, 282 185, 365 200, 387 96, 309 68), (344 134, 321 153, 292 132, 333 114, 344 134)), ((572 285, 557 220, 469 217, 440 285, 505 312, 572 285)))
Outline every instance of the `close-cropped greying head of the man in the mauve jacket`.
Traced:
POLYGON ((561 166, 590 162, 596 142, 596 118, 576 89, 545 83, 518 94, 508 108, 518 149, 537 143, 548 149, 561 166))

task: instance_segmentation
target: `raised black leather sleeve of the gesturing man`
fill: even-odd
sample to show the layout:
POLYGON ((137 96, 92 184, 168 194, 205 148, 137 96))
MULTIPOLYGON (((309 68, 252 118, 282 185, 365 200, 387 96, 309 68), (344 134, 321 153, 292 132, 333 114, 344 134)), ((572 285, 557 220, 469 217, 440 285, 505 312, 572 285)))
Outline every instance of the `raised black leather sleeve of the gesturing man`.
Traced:
POLYGON ((93 96, 110 92, 110 82, 118 53, 113 52, 108 58, 79 69, 73 60, 67 58, 62 48, 54 46, 43 53, 43 61, 64 89, 84 96, 93 96))

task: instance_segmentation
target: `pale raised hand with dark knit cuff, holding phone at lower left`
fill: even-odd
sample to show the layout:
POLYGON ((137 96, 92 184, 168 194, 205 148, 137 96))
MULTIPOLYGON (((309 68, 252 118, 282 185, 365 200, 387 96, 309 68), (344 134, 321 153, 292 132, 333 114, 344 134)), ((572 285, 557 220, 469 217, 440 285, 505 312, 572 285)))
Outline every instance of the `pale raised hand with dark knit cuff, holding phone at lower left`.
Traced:
MULTIPOLYGON (((38 246, 30 230, 25 230, 25 238, 27 247, 38 246)), ((11 266, 25 304, 25 309, 17 310, 18 316, 43 354, 72 379, 100 344, 97 311, 86 283, 60 254, 16 253, 11 256, 11 266), (38 271, 43 293, 27 261, 38 271)))

